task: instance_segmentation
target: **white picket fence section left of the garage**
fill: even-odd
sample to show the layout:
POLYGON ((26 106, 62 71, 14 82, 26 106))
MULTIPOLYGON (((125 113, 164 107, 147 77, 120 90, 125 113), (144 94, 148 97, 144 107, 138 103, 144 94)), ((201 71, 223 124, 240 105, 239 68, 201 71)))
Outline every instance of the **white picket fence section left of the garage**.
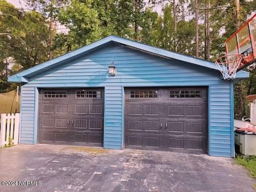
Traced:
POLYGON ((13 145, 18 144, 19 140, 19 122, 20 114, 1 114, 0 126, 0 147, 9 145, 9 138, 13 145))

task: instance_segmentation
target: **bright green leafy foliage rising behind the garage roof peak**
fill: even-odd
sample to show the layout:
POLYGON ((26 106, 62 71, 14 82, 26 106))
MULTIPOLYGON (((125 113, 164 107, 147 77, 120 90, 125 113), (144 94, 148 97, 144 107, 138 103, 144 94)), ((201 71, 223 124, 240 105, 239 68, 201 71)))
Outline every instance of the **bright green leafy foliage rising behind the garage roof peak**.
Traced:
POLYGON ((55 42, 55 46, 64 46, 70 51, 110 34, 133 39, 134 20, 138 26, 141 21, 138 20, 140 14, 135 12, 134 0, 71 0, 58 14, 59 22, 69 33, 57 35, 59 42, 55 42))

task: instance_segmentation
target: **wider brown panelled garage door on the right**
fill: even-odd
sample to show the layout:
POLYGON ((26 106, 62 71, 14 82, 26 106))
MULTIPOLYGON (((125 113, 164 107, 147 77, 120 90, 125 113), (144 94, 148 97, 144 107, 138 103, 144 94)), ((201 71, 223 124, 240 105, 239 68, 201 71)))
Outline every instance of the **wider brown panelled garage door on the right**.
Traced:
POLYGON ((207 153, 207 88, 125 90, 125 147, 207 153))

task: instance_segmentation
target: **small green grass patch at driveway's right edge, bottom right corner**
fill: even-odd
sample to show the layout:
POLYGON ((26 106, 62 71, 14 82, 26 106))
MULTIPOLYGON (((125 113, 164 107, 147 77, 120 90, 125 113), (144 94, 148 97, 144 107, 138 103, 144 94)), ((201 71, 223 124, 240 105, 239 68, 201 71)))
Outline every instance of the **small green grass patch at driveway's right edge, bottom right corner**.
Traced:
MULTIPOLYGON (((243 165, 248 171, 249 175, 256 179, 256 156, 236 155, 236 163, 243 165)), ((254 186, 256 188, 256 186, 254 186)))

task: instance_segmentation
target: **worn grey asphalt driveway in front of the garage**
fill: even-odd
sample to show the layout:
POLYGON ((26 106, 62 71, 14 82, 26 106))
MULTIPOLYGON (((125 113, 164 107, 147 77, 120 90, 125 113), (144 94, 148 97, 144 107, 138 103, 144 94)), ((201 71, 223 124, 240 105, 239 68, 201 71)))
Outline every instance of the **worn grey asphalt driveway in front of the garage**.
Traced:
POLYGON ((161 151, 17 145, 0 150, 0 181, 25 186, 0 191, 254 191, 256 181, 233 162, 161 151))

